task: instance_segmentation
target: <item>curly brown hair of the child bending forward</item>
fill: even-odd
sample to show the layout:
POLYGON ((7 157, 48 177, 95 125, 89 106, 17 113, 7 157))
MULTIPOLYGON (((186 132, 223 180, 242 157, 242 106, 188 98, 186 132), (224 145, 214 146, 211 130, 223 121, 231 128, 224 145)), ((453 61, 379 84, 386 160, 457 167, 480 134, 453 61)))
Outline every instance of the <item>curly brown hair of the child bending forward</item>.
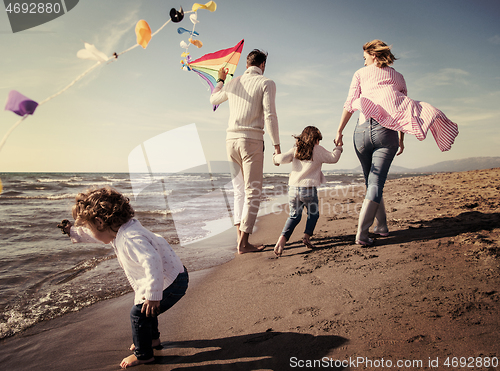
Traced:
POLYGON ((76 225, 95 225, 95 218, 104 222, 102 230, 118 229, 134 216, 129 199, 111 187, 88 189, 79 193, 73 205, 73 218, 76 225))

